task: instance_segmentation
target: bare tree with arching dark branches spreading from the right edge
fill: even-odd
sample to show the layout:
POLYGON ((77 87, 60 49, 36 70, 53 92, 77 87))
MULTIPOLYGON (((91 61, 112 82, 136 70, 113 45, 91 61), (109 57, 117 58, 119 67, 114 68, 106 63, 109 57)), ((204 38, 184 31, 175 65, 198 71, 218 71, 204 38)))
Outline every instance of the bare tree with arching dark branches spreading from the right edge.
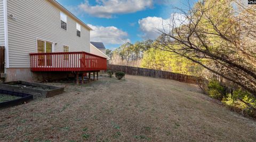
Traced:
POLYGON ((170 30, 155 46, 174 52, 256 96, 255 9, 236 1, 199 1, 183 16, 171 18, 170 30))

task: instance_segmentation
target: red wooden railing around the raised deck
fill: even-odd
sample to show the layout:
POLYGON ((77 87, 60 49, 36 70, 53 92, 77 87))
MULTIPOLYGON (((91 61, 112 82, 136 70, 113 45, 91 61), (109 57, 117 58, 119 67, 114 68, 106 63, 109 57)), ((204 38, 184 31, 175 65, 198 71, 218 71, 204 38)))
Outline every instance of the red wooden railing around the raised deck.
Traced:
POLYGON ((84 51, 31 53, 32 72, 86 72, 107 69, 107 59, 84 51))

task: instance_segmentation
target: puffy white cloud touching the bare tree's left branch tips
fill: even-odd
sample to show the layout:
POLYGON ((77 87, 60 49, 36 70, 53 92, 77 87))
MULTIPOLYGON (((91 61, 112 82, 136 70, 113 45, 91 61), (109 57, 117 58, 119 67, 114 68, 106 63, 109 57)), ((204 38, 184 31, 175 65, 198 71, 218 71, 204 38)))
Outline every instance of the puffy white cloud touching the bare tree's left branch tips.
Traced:
POLYGON ((185 17, 182 14, 171 14, 169 19, 163 19, 162 17, 146 17, 139 20, 140 35, 144 39, 156 39, 161 32, 170 32, 173 27, 179 26, 185 21, 185 17))

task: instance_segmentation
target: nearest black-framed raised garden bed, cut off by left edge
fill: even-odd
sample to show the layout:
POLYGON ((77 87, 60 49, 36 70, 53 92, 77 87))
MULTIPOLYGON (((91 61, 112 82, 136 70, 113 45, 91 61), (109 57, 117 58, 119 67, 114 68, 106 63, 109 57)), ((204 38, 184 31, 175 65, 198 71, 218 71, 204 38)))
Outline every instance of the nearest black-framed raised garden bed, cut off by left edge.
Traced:
POLYGON ((30 94, 0 90, 0 108, 19 105, 32 99, 33 95, 30 94))

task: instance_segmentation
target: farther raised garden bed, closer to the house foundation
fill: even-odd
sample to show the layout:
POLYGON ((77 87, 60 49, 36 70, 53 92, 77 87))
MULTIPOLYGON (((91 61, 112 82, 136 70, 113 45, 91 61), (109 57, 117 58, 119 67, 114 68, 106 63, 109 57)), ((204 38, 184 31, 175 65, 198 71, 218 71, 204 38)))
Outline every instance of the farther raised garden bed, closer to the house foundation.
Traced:
POLYGON ((0 84, 0 90, 33 94, 34 96, 51 97, 64 92, 64 87, 31 83, 25 81, 6 82, 0 84))

